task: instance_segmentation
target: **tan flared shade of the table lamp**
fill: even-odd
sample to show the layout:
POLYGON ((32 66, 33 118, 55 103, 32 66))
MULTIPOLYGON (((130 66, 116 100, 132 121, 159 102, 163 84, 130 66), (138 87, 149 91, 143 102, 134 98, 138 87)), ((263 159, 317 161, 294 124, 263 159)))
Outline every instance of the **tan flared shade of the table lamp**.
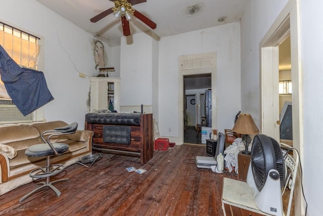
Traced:
POLYGON ((250 114, 241 113, 234 124, 232 131, 238 134, 259 134, 259 129, 250 114))

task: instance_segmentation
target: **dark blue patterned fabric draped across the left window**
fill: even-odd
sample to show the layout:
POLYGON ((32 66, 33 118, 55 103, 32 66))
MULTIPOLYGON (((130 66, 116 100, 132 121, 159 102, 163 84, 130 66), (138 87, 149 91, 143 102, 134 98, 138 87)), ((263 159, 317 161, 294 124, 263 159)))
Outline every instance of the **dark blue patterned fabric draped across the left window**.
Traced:
POLYGON ((0 46, 0 74, 8 95, 23 115, 53 100, 43 72, 21 68, 0 46))

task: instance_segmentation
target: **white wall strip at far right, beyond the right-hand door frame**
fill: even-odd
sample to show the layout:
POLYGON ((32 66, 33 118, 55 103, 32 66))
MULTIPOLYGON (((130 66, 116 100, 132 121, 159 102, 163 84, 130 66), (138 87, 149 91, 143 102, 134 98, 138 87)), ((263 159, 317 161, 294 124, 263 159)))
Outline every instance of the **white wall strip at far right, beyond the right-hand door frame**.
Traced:
POLYGON ((304 183, 307 215, 323 215, 323 174, 320 166, 323 145, 323 2, 300 1, 301 56, 303 70, 304 183))

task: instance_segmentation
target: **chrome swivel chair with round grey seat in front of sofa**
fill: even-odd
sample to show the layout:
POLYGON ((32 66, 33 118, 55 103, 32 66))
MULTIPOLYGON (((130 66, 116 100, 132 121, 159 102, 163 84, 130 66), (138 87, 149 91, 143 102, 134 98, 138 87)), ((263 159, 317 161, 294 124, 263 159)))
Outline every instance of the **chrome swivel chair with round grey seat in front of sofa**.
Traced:
POLYGON ((29 176, 33 179, 45 178, 45 181, 38 183, 38 185, 42 185, 23 196, 19 200, 19 202, 23 202, 27 197, 40 190, 52 189, 57 194, 57 196, 61 195, 61 192, 52 184, 61 181, 69 181, 69 179, 60 179, 50 182, 51 176, 57 175, 65 169, 62 164, 50 164, 50 156, 62 155, 69 149, 69 146, 65 143, 51 143, 50 138, 53 136, 74 134, 76 132, 77 126, 77 122, 74 122, 64 127, 55 128, 51 131, 44 131, 43 133, 41 133, 41 139, 44 141, 44 143, 32 145, 28 149, 26 149, 25 155, 27 155, 28 157, 46 156, 46 165, 32 170, 29 174, 29 176), (45 135, 48 135, 47 139, 44 138, 45 135))

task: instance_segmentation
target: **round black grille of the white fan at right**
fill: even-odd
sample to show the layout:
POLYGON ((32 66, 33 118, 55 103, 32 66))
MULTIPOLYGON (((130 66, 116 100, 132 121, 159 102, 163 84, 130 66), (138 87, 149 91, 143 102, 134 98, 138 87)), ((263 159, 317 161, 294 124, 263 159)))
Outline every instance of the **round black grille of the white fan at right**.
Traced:
POLYGON ((263 188, 271 169, 279 172, 281 188, 283 188, 285 161, 280 145, 266 135, 256 135, 251 147, 251 170, 258 191, 263 188))

